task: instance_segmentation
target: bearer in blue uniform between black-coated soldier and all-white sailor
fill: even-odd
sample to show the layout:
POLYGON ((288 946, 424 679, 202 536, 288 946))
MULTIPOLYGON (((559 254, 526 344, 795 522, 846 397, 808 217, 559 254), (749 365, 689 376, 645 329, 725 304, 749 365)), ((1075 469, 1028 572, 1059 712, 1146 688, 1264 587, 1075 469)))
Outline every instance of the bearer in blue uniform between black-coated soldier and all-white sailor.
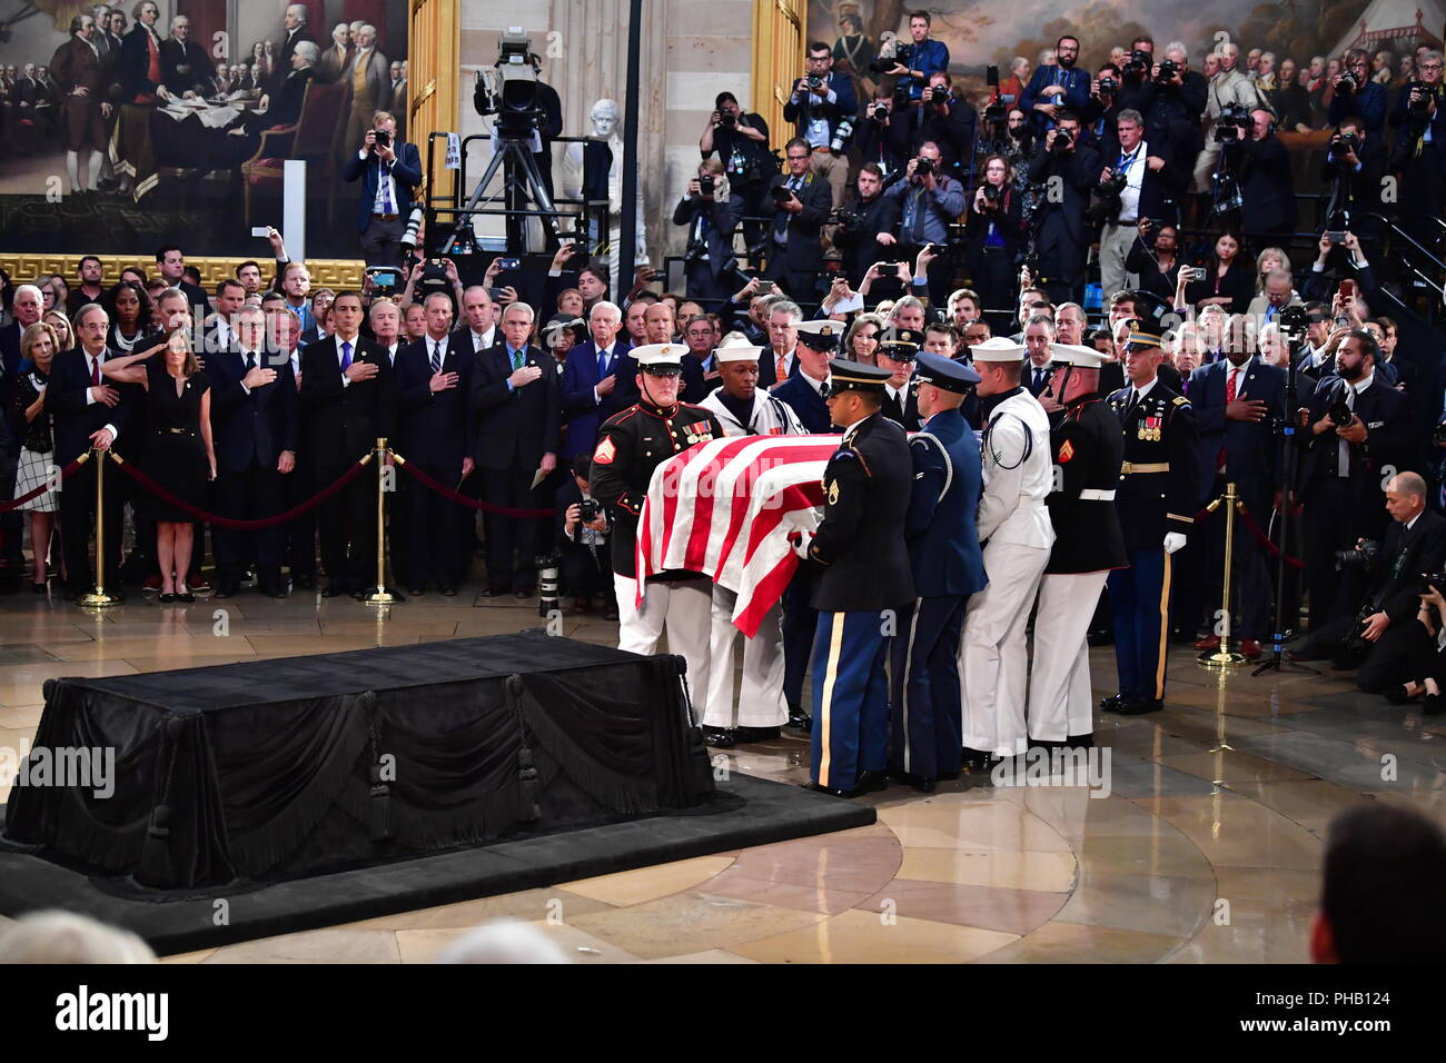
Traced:
POLYGON ((924 793, 959 778, 959 639, 964 603, 988 583, 975 534, 979 444, 960 412, 976 383, 972 366, 927 351, 911 380, 924 418, 908 444, 914 483, 904 519, 917 597, 894 639, 889 774, 924 793))

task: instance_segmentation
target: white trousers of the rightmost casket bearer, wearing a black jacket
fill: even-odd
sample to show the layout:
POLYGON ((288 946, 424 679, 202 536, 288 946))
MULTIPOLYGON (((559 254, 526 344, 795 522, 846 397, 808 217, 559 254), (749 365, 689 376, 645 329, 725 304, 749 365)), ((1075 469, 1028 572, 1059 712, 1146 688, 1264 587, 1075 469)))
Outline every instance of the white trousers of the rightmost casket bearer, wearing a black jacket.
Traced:
POLYGON ((1040 580, 1030 667, 1030 738, 1035 740, 1095 733, 1086 635, 1108 576, 1058 573, 1040 580))

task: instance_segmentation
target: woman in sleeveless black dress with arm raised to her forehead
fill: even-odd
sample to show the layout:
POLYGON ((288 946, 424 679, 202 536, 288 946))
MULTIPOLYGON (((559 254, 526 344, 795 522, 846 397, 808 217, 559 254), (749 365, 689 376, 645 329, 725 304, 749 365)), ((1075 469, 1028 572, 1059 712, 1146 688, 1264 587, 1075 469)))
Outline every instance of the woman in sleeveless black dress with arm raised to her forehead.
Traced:
MULTIPOLYGON (((146 386, 146 443, 140 467, 178 499, 205 508, 205 484, 215 479, 211 443, 211 380, 191 350, 184 330, 171 333, 158 353, 111 359, 101 366, 121 383, 146 386)), ((195 602, 185 586, 191 571, 192 521, 184 509, 147 496, 156 521, 161 602, 195 602)))

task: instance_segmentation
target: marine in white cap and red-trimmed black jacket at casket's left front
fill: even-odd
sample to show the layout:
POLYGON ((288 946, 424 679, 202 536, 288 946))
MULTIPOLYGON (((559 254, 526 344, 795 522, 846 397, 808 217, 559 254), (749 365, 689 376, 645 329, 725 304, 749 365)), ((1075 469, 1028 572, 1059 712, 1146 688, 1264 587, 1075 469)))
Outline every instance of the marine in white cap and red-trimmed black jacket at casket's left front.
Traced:
POLYGON ((633 347, 641 399, 610 417, 599 430, 589 493, 609 509, 613 525, 613 583, 617 590, 617 648, 652 654, 664 625, 668 649, 688 662, 688 686, 701 716, 709 688, 710 589, 703 573, 658 573, 648 579, 638 603, 638 518, 652 471, 694 443, 723 438, 723 427, 706 409, 678 402, 683 379, 681 343, 633 347))

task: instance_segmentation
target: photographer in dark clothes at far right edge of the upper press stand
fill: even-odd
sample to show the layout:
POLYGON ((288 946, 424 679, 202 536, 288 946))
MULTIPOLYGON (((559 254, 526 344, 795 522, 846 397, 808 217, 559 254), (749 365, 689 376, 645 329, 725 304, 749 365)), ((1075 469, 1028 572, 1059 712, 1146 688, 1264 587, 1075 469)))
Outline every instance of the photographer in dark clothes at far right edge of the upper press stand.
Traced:
POLYGON ((1434 246, 1434 218, 1442 213, 1442 166, 1446 155, 1446 97, 1442 88, 1442 54, 1432 51, 1417 61, 1420 81, 1395 94, 1391 126, 1395 153, 1391 171, 1400 175, 1397 214, 1401 224, 1426 246, 1434 246))

